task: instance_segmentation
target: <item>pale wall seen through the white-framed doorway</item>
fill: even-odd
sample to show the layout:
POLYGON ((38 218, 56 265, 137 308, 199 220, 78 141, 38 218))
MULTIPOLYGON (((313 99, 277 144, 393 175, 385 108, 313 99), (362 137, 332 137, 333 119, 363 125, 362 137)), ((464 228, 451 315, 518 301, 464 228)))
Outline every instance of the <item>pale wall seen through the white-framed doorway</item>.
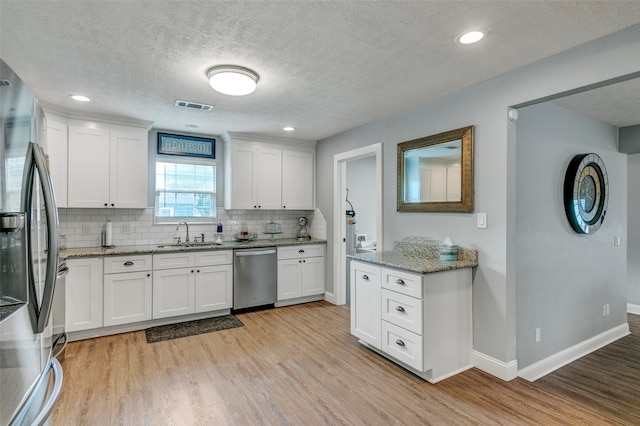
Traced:
POLYGON ((349 201, 356 211, 358 233, 367 234, 369 241, 377 239, 376 158, 365 157, 347 162, 349 201))

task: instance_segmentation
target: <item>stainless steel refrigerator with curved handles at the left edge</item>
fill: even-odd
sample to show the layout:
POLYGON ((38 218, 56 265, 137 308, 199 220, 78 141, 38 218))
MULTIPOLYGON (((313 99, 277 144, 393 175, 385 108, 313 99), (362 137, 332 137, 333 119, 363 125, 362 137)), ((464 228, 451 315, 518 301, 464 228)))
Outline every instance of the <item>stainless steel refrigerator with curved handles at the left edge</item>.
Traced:
POLYGON ((64 267, 44 120, 0 59, 0 426, 45 424, 62 388, 50 317, 64 267))

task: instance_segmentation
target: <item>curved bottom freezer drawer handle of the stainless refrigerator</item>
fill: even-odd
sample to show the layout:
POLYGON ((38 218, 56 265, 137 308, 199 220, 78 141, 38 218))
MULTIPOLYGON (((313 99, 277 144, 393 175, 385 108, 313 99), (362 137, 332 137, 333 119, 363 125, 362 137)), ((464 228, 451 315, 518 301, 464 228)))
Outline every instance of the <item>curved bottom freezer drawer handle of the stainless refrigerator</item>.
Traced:
MULTIPOLYGON (((16 416, 9 423, 10 426, 18 426, 23 425, 25 421, 31 420, 31 426, 42 426, 46 424, 47 419, 51 416, 53 412, 53 407, 58 402, 58 398, 60 397, 60 392, 62 391, 62 382, 64 379, 64 375, 62 373, 62 366, 58 362, 57 359, 52 358, 49 362, 49 368, 45 369, 45 371, 40 376, 34 390, 32 392, 32 397, 27 400, 22 409, 16 414, 16 416), (44 401, 42 407, 39 408, 39 412, 35 419, 31 420, 29 417, 33 416, 35 413, 31 413, 31 409, 33 408, 33 404, 38 404, 38 401, 34 401, 33 398, 39 395, 37 392, 41 387, 48 386, 49 382, 49 374, 53 373, 53 386, 47 396, 47 400, 44 401)), ((37 406, 35 406, 37 407, 37 406)))

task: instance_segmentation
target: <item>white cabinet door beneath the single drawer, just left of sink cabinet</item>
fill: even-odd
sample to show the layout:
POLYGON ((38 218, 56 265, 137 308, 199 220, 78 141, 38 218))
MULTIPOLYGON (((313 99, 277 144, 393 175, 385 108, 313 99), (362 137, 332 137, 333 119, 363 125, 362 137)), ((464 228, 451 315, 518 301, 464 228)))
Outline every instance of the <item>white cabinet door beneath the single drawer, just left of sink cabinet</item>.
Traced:
POLYGON ((104 276, 104 325, 151 319, 151 272, 104 276))

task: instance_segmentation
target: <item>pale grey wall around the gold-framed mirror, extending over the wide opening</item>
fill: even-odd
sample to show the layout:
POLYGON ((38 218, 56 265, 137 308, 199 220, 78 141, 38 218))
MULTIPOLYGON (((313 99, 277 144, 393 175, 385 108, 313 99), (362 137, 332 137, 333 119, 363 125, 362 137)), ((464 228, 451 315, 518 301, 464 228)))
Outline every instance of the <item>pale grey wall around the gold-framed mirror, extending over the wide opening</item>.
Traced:
MULTIPOLYGON (((474 349, 499 362, 516 360, 516 135, 515 124, 506 118, 507 108, 638 69, 640 25, 320 141, 317 204, 327 219, 328 289, 333 289, 330 272, 336 238, 332 235, 333 182, 329 178, 333 156, 380 142, 384 249, 408 235, 439 239, 449 235, 459 245, 477 249, 480 265, 473 283, 474 349), (396 212, 397 144, 468 125, 475 126, 474 210, 488 214, 488 228, 476 228, 475 214, 396 212)), ((595 328, 591 331, 595 335, 595 328)))

